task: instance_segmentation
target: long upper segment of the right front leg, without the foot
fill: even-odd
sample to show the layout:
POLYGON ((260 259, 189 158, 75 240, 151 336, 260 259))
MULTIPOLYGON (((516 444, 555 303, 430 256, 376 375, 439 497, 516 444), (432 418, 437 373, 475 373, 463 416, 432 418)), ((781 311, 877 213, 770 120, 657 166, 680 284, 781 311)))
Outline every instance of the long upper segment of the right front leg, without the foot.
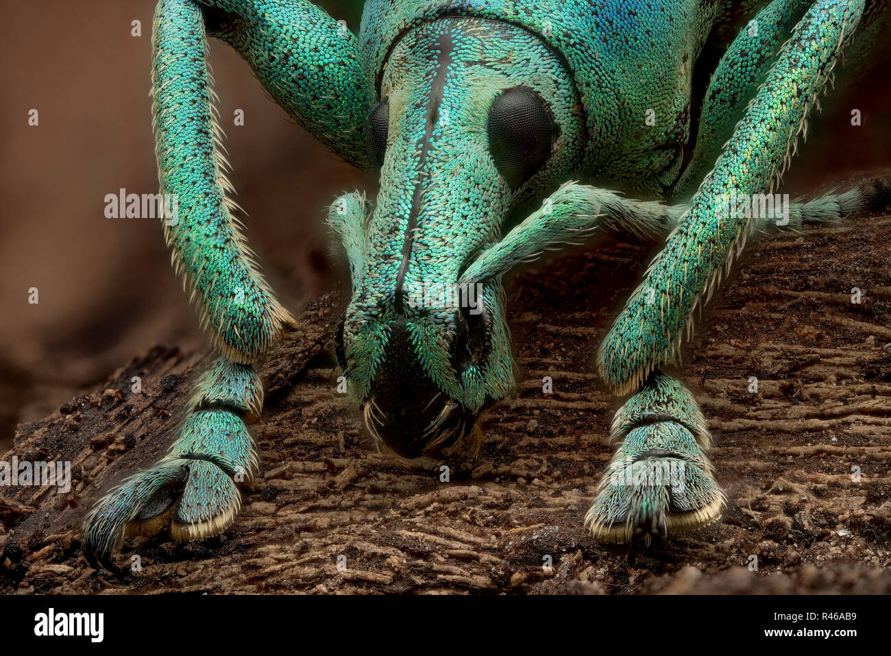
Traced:
POLYGON ((674 360, 693 309, 757 225, 723 217, 720 209, 732 196, 772 192, 862 8, 862 0, 819 0, 783 46, 690 210, 601 344, 601 374, 618 393, 638 389, 674 360))

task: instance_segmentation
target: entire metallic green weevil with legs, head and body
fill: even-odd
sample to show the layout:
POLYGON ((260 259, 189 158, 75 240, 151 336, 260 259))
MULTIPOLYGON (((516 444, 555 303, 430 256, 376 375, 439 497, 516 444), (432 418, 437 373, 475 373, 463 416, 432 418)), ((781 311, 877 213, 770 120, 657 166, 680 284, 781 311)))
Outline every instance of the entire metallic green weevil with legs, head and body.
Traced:
POLYGON ((368 0, 356 37, 307 0, 160 0, 154 129, 161 191, 179 209, 165 230, 220 355, 168 455, 86 518, 87 556, 110 565, 125 534, 216 535, 239 511, 236 481, 257 472, 243 422, 262 405, 252 364, 292 319, 229 199, 208 37, 241 53, 309 133, 380 177, 373 206, 348 193, 329 211, 352 283, 334 341, 349 397, 395 455, 472 446, 480 411, 510 393, 502 279, 513 266, 599 228, 665 240, 597 353, 602 381, 630 397, 585 524, 629 541, 722 511, 703 414, 663 368, 748 237, 887 202, 887 180, 807 203, 774 195, 843 53, 873 56, 885 10, 368 0), (707 50, 719 56, 703 71, 707 50))

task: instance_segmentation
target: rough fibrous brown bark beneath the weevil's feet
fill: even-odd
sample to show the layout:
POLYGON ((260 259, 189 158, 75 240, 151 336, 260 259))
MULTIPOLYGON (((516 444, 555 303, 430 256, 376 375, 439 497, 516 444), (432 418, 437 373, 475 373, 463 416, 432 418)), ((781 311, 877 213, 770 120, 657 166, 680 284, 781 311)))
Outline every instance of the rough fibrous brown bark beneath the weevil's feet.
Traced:
POLYGON ((476 459, 377 454, 336 391, 331 336, 345 299, 315 301, 263 367, 266 406, 250 430, 264 469, 238 520, 203 543, 128 540, 119 562, 139 554, 143 569, 110 577, 81 557, 82 518, 163 454, 207 361, 152 348, 101 389, 19 426, 0 459, 69 460, 75 480, 68 495, 0 488, 0 590, 891 592, 891 217, 750 248, 680 369, 713 430, 728 507, 705 529, 630 550, 594 542, 582 521, 618 405, 593 354, 648 258, 607 240, 513 279, 518 385, 482 416, 476 459))

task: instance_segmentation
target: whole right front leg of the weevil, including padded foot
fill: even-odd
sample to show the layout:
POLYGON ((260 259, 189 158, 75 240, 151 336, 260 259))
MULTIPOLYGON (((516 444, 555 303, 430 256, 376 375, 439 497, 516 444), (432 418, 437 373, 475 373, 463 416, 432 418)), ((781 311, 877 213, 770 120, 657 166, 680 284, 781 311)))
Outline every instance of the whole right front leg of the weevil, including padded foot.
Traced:
MULTIPOLYGON (((764 11, 797 11, 794 5, 778 0, 764 11)), ((794 20, 795 11, 778 23, 780 28, 794 20)), ((614 458, 614 472, 601 481, 588 513, 595 537, 627 540, 638 534, 664 535, 714 521, 720 512, 723 496, 705 459, 707 439, 702 436, 707 433, 699 409, 690 393, 660 373, 659 367, 674 361, 684 330, 691 329, 693 309, 707 302, 734 253, 740 252, 759 224, 764 225, 764 217, 722 210, 735 202, 733 198, 772 193, 795 152, 798 136, 806 133, 808 112, 830 79, 862 11, 862 0, 817 0, 807 8, 665 249, 601 344, 599 366, 604 381, 619 394, 639 391, 617 416, 614 438, 624 441, 614 458), (629 414, 642 418, 636 425, 629 424, 629 414), (623 426, 629 430, 623 433, 623 426), (673 464, 682 468, 683 476, 675 478, 683 480, 683 486, 666 485, 664 480, 651 483, 646 478, 641 483, 640 476, 634 478, 650 470, 670 471, 673 464), (628 476, 616 477, 615 471, 631 473, 631 483, 614 485, 616 478, 628 480, 628 476)), ((731 77, 739 78, 746 70, 737 60, 722 64, 723 72, 731 77)), ((751 85, 742 76, 742 95, 728 102, 739 103, 751 85)), ((711 125, 709 119, 704 128, 711 125)), ((722 127, 720 119, 711 125, 718 133, 727 127, 722 127)), ((861 189, 812 201, 798 207, 797 223, 805 215, 832 220, 852 213, 868 196, 870 190, 861 189)))

